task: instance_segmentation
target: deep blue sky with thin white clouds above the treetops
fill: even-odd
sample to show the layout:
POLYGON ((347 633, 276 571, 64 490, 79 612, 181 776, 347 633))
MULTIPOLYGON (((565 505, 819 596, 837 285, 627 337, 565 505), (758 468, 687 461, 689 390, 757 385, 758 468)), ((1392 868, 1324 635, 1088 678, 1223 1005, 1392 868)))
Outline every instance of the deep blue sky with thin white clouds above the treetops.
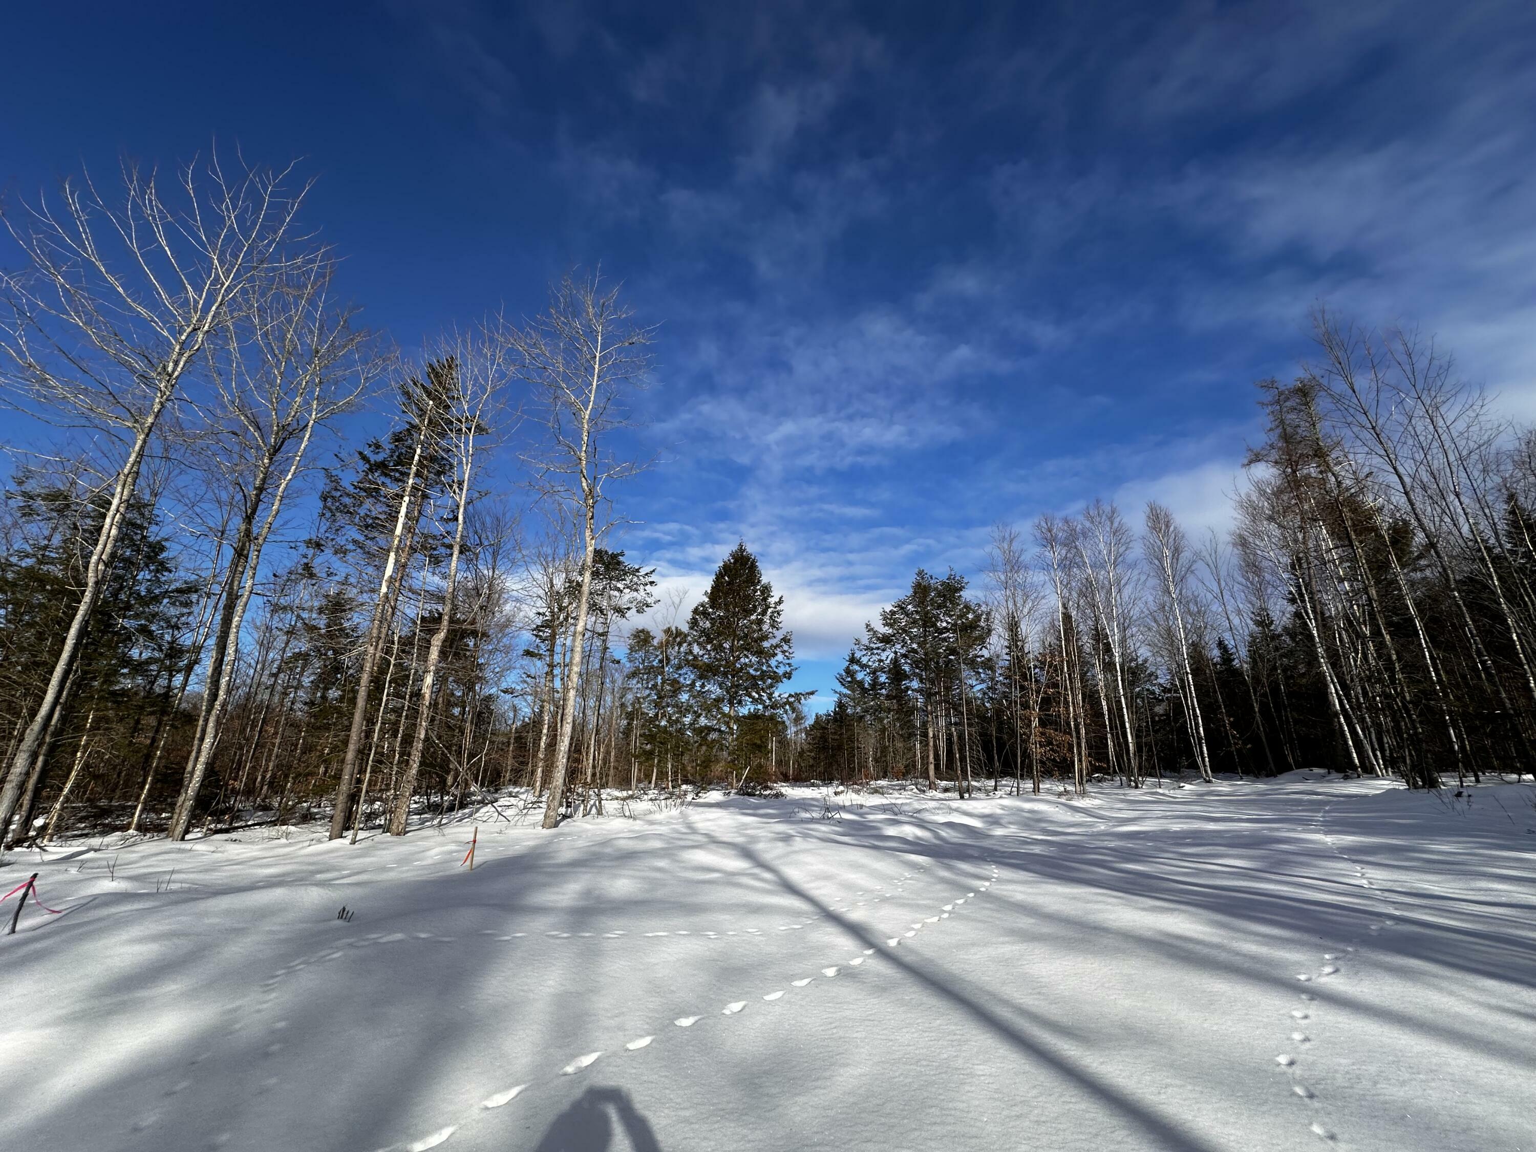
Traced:
MULTIPOLYGON (((989 525, 1224 521, 1316 301, 1536 410, 1536 6, 15 6, 0 180, 301 158, 410 346, 602 263, 659 323, 621 541, 737 538, 800 682, 989 525), (154 11, 149 11, 154 9, 154 11)), ((510 470, 508 470, 510 473, 510 470)), ((825 691, 823 691, 825 696, 825 691)))

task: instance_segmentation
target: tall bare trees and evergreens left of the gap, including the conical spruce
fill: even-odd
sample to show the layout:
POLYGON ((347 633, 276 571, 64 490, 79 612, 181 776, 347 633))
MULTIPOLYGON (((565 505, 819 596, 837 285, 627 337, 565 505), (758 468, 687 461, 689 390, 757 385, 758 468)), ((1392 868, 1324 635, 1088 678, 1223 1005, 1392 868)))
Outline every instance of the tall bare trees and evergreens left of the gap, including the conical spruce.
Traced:
POLYGON ((5 843, 401 834, 510 785, 553 826, 642 765, 740 783, 766 739, 771 770, 800 697, 756 558, 628 624, 654 573, 605 539, 651 333, 617 289, 404 355, 338 300, 306 194, 215 158, 6 209, 0 381, 35 435, 0 516, 5 843))

